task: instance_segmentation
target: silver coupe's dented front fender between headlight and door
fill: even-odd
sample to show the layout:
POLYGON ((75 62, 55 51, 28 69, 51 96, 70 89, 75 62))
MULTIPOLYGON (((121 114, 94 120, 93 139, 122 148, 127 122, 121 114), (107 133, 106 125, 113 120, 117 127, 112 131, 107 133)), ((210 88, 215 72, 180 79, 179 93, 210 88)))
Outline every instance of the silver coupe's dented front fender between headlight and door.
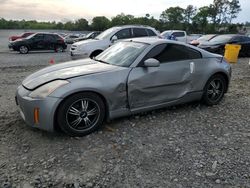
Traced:
POLYGON ((70 82, 56 89, 50 96, 65 99, 79 92, 95 92, 101 95, 110 111, 127 108, 127 76, 130 68, 80 76, 68 79, 70 82))

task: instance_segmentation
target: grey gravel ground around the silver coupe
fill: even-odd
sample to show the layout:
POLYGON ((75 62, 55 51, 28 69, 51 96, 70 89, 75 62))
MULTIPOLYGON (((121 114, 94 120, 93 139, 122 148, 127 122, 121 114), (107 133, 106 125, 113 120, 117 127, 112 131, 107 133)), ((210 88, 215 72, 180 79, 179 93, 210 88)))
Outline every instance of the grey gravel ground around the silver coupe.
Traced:
POLYGON ((250 187, 250 66, 233 65, 220 105, 120 118, 83 138, 29 128, 22 79, 68 53, 0 53, 0 187, 250 187))

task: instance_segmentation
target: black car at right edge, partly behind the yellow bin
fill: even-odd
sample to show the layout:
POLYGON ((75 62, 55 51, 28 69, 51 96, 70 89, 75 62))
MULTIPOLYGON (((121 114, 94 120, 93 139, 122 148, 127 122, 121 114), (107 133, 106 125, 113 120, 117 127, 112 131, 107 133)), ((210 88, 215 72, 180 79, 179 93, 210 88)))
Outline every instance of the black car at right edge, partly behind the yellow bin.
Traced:
POLYGON ((239 44, 241 50, 239 56, 250 56, 250 37, 237 34, 218 35, 212 38, 208 42, 198 45, 199 48, 207 50, 209 52, 224 54, 226 44, 239 44))

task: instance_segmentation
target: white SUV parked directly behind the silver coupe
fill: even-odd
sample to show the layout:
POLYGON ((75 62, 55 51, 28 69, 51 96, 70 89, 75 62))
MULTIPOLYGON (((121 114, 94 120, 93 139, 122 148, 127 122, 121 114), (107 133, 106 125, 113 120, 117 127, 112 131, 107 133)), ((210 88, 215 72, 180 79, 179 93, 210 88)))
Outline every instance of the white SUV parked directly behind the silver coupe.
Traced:
POLYGON ((72 44, 72 59, 93 58, 110 47, 115 41, 137 37, 160 37, 158 32, 149 26, 124 25, 116 26, 102 32, 94 39, 79 41, 72 44))

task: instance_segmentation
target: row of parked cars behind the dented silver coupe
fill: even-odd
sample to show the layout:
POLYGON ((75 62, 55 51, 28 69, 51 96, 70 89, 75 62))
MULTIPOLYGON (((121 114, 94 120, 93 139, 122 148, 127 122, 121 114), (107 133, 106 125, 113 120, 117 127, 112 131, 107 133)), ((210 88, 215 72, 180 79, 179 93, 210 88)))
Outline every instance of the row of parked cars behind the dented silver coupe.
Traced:
POLYGON ((72 44, 72 59, 95 57, 114 42, 138 37, 158 37, 188 43, 209 52, 224 54, 226 44, 240 44, 240 56, 250 56, 250 37, 238 34, 200 34, 187 35, 182 30, 167 30, 159 34, 154 28, 143 25, 124 25, 107 29, 104 32, 93 31, 85 34, 56 34, 26 32, 9 38, 9 48, 22 54, 32 50, 64 51, 72 44))

